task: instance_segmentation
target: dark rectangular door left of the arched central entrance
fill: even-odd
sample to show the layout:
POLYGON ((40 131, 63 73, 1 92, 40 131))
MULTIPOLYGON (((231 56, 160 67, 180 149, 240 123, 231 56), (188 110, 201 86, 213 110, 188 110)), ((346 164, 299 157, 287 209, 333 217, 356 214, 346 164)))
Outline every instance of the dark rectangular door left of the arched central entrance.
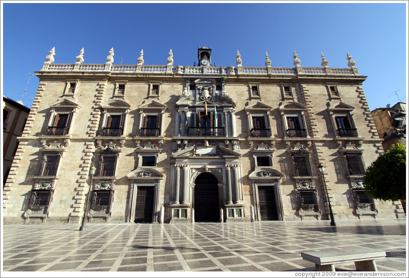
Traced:
POLYGON ((138 186, 135 223, 152 222, 154 190, 154 186, 138 186))

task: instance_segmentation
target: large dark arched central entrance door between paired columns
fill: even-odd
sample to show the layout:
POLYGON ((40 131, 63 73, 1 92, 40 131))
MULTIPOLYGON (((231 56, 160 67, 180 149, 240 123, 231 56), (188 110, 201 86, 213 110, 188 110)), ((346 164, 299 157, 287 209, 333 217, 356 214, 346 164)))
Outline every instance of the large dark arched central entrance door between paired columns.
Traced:
POLYGON ((215 222, 220 219, 217 179, 209 173, 200 174, 194 185, 194 221, 215 222))

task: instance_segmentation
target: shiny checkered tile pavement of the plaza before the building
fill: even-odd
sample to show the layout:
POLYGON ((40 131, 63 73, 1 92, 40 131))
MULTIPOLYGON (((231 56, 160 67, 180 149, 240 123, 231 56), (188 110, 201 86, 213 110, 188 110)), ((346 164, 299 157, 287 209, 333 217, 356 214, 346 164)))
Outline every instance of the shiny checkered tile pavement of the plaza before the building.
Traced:
MULTIPOLYGON (((3 271, 310 271, 300 253, 386 251, 379 271, 406 271, 405 220, 3 226, 3 271)), ((337 270, 355 269, 353 264, 337 270)))

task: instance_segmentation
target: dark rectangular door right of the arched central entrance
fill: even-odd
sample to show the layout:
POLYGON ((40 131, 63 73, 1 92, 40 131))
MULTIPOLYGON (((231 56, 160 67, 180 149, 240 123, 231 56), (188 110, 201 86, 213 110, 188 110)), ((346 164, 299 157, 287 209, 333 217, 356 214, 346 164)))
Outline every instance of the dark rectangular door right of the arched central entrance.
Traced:
POLYGON ((274 186, 258 186, 258 205, 261 221, 279 220, 274 186))

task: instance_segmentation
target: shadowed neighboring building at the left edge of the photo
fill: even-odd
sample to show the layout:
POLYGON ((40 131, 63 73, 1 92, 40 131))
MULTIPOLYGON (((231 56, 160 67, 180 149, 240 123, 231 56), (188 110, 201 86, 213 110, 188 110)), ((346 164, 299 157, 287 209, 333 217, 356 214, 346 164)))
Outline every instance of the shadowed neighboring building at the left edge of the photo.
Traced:
POLYGON ((21 101, 14 101, 3 96, 3 187, 14 156, 17 152, 19 142, 17 137, 23 133, 24 125, 30 113, 30 108, 24 106, 21 101))

